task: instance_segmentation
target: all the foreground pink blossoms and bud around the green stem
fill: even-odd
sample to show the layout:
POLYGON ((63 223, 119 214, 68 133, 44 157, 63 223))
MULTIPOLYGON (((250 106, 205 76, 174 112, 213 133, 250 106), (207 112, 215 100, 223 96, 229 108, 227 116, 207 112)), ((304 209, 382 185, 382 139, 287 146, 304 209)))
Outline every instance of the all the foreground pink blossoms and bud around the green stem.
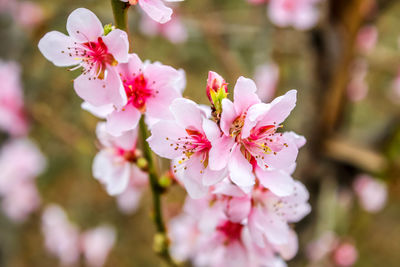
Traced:
POLYGON ((305 139, 281 131, 296 91, 267 104, 256 84, 240 77, 231 101, 225 80, 210 72, 211 109, 204 108, 182 98, 183 71, 129 54, 126 33, 103 28, 91 11, 73 11, 67 31, 47 33, 39 49, 57 66, 83 69, 74 89, 84 109, 105 119, 97 127, 93 174, 120 208, 134 210, 147 183, 137 149, 145 115, 147 142, 172 160, 191 197, 170 227, 174 256, 199 266, 284 266, 297 252, 291 224, 310 212, 306 188, 291 176, 305 139))

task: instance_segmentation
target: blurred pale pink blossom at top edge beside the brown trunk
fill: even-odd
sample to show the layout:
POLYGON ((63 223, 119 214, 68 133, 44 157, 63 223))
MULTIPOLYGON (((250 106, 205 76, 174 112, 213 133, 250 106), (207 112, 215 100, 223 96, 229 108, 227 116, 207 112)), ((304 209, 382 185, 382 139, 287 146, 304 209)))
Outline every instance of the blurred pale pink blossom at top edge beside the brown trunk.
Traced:
POLYGON ((319 19, 316 3, 320 0, 270 0, 268 16, 279 27, 299 30, 312 28, 319 19))

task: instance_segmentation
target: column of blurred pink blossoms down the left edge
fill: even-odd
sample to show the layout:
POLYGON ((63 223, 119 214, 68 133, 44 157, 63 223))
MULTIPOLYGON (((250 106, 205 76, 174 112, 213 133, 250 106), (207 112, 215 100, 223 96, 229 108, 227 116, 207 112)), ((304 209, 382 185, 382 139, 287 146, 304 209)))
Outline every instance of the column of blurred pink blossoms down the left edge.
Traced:
POLYGON ((0 78, 0 130, 11 137, 0 150, 1 206, 11 220, 22 222, 40 205, 35 182, 46 164, 27 138, 29 125, 17 63, 0 61, 0 78))

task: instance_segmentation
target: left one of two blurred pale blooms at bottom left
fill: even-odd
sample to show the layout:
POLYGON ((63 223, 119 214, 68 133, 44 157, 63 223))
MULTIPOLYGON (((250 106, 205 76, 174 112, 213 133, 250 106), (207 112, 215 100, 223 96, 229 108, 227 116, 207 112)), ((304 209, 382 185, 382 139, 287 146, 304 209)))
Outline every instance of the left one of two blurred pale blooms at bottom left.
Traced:
POLYGON ((42 232, 46 249, 59 258, 63 265, 72 265, 79 261, 79 229, 68 220, 61 207, 49 205, 45 208, 42 232))

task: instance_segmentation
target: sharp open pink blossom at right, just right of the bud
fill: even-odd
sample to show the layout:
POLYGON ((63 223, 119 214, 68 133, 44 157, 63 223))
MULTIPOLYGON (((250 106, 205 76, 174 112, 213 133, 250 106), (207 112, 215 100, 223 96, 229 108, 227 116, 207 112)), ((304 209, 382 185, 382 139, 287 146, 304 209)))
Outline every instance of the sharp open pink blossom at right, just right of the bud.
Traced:
POLYGON ((256 91, 252 80, 240 77, 234 89, 234 102, 222 100, 223 135, 210 139, 210 168, 227 167, 232 181, 242 188, 255 183, 255 170, 260 180, 286 184, 287 190, 275 193, 289 195, 293 179, 282 170, 294 164, 298 147, 291 135, 277 130, 295 107, 296 91, 291 90, 270 104, 261 103, 256 91))

